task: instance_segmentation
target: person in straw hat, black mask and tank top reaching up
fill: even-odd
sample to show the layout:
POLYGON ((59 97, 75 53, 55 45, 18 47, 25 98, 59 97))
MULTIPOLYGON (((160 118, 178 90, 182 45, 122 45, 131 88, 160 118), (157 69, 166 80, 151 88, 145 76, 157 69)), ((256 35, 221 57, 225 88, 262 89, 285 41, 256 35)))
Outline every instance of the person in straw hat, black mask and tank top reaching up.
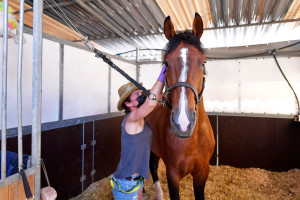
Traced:
POLYGON ((121 159, 110 183, 115 199, 142 199, 144 178, 149 179, 149 159, 152 130, 145 117, 155 108, 164 87, 165 65, 146 96, 131 82, 118 90, 118 110, 125 109, 126 116, 121 124, 121 159))

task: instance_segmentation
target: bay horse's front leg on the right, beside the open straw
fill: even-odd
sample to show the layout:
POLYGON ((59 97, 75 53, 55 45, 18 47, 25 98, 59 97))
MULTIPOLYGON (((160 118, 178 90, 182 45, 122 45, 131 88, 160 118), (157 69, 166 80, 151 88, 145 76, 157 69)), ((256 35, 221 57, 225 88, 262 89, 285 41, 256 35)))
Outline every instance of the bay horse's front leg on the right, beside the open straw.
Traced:
POLYGON ((209 165, 205 165, 203 168, 197 170, 192 174, 193 176, 193 185, 194 185, 194 194, 196 200, 204 200, 204 189, 205 183, 208 178, 209 165))

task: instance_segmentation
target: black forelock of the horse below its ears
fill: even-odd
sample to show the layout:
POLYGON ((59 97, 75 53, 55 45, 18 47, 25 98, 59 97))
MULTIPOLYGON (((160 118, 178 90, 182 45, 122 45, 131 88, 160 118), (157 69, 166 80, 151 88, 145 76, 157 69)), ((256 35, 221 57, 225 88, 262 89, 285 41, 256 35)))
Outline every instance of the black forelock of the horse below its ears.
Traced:
POLYGON ((193 33, 185 31, 183 33, 176 34, 174 37, 170 39, 170 41, 167 43, 165 47, 164 58, 166 55, 168 55, 174 49, 176 49, 181 42, 191 44, 205 54, 200 40, 193 33))

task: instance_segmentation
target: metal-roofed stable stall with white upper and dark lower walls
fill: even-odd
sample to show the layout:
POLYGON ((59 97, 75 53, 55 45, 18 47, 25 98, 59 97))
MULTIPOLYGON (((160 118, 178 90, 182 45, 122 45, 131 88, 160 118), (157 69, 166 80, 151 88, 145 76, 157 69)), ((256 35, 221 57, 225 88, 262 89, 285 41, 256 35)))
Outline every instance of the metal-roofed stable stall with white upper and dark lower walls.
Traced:
POLYGON ((42 160, 57 199, 109 176, 124 117, 117 91, 128 82, 109 62, 149 89, 167 43, 165 18, 183 32, 195 12, 204 23, 203 99, 216 140, 210 163, 300 168, 299 0, 2 3, 0 199, 25 196, 18 173, 24 156, 32 158, 25 174, 35 199, 48 185, 42 160), (5 13, 19 23, 15 35, 5 13), (6 152, 18 154, 17 174, 7 176, 6 152))

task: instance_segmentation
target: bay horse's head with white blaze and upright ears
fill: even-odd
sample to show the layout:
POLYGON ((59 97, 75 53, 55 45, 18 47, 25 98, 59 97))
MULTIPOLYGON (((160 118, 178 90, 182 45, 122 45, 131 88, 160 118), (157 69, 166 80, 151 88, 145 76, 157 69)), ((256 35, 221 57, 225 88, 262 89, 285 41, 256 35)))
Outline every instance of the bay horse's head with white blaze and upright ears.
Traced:
POLYGON ((168 99, 172 103, 172 132, 178 137, 190 137, 196 124, 196 109, 204 89, 205 56, 200 37, 203 22, 198 13, 193 31, 176 34, 170 17, 164 22, 164 34, 169 40, 164 63, 168 99))

